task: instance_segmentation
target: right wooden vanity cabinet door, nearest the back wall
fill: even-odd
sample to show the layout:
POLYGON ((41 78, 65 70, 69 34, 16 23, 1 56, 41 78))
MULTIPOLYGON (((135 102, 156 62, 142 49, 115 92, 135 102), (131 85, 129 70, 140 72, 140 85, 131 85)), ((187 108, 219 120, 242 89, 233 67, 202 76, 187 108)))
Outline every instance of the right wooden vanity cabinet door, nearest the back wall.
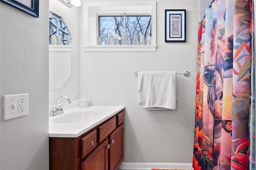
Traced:
POLYGON ((110 170, 117 170, 124 159, 124 124, 110 134, 110 170))

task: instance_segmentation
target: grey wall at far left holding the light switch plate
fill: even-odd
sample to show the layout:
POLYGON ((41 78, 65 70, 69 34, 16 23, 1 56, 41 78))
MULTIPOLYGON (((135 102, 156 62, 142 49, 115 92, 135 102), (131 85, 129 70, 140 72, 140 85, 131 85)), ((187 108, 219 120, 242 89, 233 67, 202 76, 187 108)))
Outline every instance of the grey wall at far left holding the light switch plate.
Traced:
POLYGON ((47 170, 48 10, 39 18, 0 2, 1 170, 47 170), (3 121, 3 95, 28 93, 28 115, 3 121))

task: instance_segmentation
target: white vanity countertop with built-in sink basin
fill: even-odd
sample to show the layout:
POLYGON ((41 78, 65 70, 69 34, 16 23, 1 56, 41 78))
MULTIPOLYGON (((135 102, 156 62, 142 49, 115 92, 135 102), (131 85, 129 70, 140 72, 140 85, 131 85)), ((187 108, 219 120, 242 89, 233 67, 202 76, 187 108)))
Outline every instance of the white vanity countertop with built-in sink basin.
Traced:
POLYGON ((74 107, 64 110, 63 114, 49 117, 49 137, 76 138, 106 121, 122 109, 124 109, 124 106, 74 107), (88 112, 90 116, 81 117, 78 112, 88 112))

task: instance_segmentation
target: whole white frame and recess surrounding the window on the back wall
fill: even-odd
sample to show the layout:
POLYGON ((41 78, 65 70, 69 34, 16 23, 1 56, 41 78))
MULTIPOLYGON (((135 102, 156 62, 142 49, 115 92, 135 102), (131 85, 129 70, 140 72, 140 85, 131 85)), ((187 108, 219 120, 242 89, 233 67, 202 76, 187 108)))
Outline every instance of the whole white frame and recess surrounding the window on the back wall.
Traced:
POLYGON ((156 51, 156 1, 84 2, 82 9, 83 51, 156 51), (133 12, 129 10, 114 10, 116 7, 123 7, 124 9, 132 7, 136 10, 130 10, 133 12), (129 16, 150 15, 152 45, 96 45, 98 16, 118 14, 129 16))

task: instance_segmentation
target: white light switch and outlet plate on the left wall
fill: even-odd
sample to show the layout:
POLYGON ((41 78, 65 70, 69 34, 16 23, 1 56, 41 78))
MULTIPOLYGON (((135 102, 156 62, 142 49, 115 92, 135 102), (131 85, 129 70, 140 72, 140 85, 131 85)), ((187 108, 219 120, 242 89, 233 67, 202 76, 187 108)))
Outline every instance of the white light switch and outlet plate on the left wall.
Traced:
POLYGON ((28 93, 4 96, 4 121, 28 115, 28 93))

